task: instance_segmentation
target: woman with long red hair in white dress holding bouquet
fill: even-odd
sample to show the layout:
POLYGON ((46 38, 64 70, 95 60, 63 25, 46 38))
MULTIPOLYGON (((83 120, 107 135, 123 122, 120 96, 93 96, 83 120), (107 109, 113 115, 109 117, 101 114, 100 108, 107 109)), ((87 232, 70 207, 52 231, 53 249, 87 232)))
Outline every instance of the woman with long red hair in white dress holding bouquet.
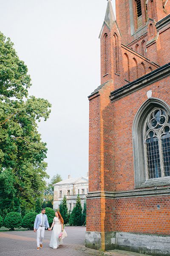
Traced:
POLYGON ((53 223, 51 225, 52 233, 51 233, 51 241, 50 247, 53 249, 57 249, 60 244, 63 244, 62 239, 67 237, 67 233, 63 230, 63 218, 59 211, 55 212, 55 217, 53 219, 53 223), (62 232, 62 238, 59 239, 59 234, 62 232))

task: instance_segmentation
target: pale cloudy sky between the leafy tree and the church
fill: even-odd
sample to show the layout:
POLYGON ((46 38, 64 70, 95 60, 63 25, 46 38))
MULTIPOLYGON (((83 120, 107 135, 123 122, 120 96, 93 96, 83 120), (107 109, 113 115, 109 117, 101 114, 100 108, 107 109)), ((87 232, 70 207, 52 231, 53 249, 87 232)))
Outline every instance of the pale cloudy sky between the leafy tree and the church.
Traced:
POLYGON ((52 104, 49 119, 38 123, 47 173, 86 176, 88 95, 100 85, 98 37, 107 0, 0 0, 0 6, 0 31, 31 76, 29 95, 52 104))

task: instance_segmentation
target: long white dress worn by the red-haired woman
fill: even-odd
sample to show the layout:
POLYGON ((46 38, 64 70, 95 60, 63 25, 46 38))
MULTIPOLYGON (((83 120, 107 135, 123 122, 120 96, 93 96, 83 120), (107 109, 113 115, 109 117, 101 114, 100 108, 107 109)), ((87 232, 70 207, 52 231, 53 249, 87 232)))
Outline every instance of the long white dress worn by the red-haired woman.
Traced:
POLYGON ((53 230, 51 233, 50 247, 53 249, 57 249, 60 244, 63 244, 62 239, 67 237, 67 233, 65 232, 65 230, 63 230, 62 239, 61 239, 61 241, 59 241, 58 237, 62 231, 61 222, 60 222, 59 218, 54 217, 53 223, 54 223, 54 226, 53 226, 53 230))

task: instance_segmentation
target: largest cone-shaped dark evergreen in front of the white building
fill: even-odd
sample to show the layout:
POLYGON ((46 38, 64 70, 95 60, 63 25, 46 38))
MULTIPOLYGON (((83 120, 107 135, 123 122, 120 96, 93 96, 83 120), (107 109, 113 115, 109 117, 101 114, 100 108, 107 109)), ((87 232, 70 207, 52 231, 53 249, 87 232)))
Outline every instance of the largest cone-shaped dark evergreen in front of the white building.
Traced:
POLYGON ((79 195, 77 196, 76 206, 71 212, 69 223, 71 226, 82 225, 82 206, 79 195))

